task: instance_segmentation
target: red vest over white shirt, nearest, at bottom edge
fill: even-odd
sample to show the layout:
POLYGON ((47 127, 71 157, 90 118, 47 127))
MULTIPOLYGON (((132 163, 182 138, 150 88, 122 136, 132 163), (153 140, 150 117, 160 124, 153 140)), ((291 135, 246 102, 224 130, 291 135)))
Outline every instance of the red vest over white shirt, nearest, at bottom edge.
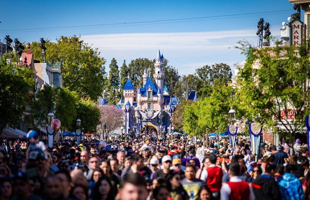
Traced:
MULTIPOLYGON (((209 176, 209 175, 208 175, 209 176)), ((249 183, 241 182, 227 182, 230 187, 229 199, 234 200, 248 200, 250 198, 249 183)))

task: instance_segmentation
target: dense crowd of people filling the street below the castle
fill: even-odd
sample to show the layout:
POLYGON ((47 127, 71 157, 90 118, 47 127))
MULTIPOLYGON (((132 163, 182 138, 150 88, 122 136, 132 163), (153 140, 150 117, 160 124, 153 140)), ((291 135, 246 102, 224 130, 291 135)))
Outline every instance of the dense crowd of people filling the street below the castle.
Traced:
POLYGON ((0 147, 0 200, 309 199, 308 148, 233 144, 225 139, 98 141, 61 138, 53 147, 30 131, 0 147), (257 162, 256 162, 257 161, 257 162))

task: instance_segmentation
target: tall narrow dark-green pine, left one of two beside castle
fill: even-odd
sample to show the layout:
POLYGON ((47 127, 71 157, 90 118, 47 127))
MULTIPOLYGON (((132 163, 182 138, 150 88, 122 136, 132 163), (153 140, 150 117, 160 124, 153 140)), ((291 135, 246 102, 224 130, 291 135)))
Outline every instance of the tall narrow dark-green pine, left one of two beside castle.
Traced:
POLYGON ((108 103, 111 105, 115 105, 120 98, 120 88, 119 88, 119 70, 117 66, 116 60, 113 58, 110 64, 110 72, 109 72, 109 84, 107 88, 107 92, 109 94, 108 103))

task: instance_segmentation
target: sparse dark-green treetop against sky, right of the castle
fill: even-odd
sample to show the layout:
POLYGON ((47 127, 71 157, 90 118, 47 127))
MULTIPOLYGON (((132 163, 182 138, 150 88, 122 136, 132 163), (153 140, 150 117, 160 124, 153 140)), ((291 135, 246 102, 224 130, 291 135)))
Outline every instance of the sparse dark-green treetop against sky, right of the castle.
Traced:
POLYGON ((232 78, 232 71, 229 65, 224 63, 215 63, 214 65, 205 65, 196 69, 196 75, 204 81, 206 85, 212 85, 215 80, 227 85, 232 78))

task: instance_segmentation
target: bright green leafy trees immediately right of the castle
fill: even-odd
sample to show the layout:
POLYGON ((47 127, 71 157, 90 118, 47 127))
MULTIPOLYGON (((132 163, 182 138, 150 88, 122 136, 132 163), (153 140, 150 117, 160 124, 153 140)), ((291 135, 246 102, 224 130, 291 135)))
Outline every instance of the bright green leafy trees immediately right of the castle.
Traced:
POLYGON ((234 93, 234 90, 224 83, 215 84, 212 85, 209 97, 182 105, 182 109, 184 107, 184 111, 181 111, 184 131, 197 136, 204 135, 206 128, 209 128, 209 133, 226 132, 228 111, 233 104, 237 104, 233 101, 234 93))

